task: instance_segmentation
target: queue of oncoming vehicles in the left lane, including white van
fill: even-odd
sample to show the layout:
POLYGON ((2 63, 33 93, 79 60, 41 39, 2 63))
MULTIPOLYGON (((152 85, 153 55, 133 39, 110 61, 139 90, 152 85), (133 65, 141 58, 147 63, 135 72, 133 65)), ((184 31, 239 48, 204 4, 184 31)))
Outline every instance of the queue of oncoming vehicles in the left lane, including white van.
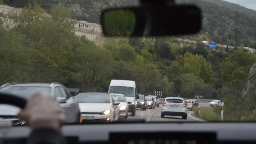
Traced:
MULTIPOLYGON (((108 93, 79 93, 75 97, 61 83, 6 83, 0 87, 2 93, 25 99, 36 91, 58 101, 65 110, 66 123, 112 122, 128 118, 128 113, 135 116, 136 109, 145 111, 160 105, 157 96, 137 94, 135 81, 129 80, 112 80, 108 93)), ((24 125, 26 122, 17 118, 20 111, 17 107, 0 104, 0 120, 24 125)))

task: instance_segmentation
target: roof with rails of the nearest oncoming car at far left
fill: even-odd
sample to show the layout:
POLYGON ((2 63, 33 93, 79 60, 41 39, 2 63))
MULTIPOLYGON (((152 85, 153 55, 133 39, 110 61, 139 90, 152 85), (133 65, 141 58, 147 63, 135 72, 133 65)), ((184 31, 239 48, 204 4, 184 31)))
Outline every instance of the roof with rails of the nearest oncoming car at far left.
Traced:
MULTIPOLYGON (((1 87, 16 87, 16 86, 42 86, 42 87, 51 87, 53 83, 6 83, 1 87)), ((55 83, 63 86, 61 83, 55 83)))

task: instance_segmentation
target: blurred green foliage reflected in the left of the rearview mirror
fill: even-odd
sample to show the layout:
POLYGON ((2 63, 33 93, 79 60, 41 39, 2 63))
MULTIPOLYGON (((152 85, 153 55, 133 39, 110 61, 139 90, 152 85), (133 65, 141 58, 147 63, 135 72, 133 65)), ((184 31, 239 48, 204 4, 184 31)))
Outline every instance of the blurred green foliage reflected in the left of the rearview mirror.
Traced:
POLYGON ((104 33, 115 36, 129 36, 135 25, 135 14, 132 10, 110 10, 103 13, 104 33))

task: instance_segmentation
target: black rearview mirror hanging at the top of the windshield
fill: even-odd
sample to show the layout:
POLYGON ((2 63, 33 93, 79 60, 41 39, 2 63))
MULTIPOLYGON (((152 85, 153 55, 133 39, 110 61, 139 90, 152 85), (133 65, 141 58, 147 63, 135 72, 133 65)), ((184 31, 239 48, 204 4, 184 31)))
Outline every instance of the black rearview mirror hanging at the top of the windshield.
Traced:
POLYGON ((194 34, 201 29, 196 6, 146 5, 102 12, 102 28, 110 36, 167 36, 194 34))

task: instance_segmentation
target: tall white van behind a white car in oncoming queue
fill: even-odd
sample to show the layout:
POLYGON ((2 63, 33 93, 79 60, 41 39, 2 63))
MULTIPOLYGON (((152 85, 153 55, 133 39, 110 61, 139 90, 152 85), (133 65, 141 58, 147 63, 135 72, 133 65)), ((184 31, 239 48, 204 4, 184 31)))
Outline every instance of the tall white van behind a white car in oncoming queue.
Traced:
POLYGON ((131 112, 131 116, 135 116, 136 99, 139 98, 135 81, 113 79, 110 82, 108 93, 124 94, 129 103, 129 112, 131 112))

